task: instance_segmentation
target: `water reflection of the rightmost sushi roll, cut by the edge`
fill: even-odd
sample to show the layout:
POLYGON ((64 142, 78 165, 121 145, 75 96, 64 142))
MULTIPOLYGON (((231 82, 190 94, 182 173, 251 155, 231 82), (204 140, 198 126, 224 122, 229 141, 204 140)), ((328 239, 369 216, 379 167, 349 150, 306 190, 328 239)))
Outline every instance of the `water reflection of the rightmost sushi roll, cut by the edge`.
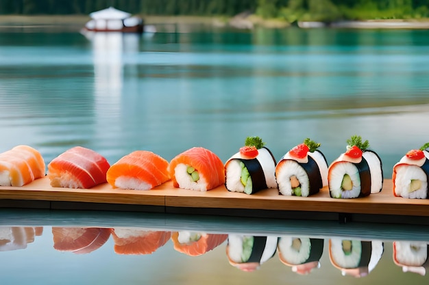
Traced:
POLYGON ((429 247, 426 242, 394 241, 393 262, 404 272, 426 275, 429 268, 429 247))

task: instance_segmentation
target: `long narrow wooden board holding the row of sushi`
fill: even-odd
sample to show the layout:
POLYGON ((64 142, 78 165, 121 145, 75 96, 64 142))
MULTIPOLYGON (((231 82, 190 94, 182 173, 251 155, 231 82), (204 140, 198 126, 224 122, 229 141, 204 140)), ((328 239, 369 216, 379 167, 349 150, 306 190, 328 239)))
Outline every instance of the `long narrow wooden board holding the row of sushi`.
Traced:
POLYGON ((334 199, 330 198, 328 187, 303 198, 280 195, 278 189, 247 195, 230 192, 223 185, 210 191, 191 191, 174 188, 171 181, 148 191, 113 189, 107 183, 92 189, 66 189, 51 187, 45 177, 23 187, 0 187, 0 200, 3 207, 8 205, 5 201, 20 200, 161 206, 165 212, 170 208, 197 208, 202 213, 210 209, 245 209, 429 217, 429 199, 395 197, 392 181, 388 179, 384 180, 380 193, 365 198, 334 199))

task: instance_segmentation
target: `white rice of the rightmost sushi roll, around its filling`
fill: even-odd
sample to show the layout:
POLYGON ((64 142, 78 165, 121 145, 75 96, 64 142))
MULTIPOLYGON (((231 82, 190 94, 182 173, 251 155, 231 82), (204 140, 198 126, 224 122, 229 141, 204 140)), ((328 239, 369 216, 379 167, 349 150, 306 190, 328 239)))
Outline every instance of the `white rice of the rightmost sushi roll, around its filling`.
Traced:
POLYGON ((417 165, 400 164, 395 166, 395 194, 403 198, 426 199, 428 196, 428 177, 417 165), (411 180, 420 180, 421 187, 410 192, 411 180))

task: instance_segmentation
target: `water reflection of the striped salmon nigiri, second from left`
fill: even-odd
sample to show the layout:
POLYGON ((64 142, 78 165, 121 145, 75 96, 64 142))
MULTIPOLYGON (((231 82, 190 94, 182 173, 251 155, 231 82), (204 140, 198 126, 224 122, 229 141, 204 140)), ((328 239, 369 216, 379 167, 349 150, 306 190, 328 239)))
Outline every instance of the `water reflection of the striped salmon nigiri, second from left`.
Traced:
POLYGON ((89 254, 108 241, 110 228, 52 227, 53 248, 60 252, 89 254))

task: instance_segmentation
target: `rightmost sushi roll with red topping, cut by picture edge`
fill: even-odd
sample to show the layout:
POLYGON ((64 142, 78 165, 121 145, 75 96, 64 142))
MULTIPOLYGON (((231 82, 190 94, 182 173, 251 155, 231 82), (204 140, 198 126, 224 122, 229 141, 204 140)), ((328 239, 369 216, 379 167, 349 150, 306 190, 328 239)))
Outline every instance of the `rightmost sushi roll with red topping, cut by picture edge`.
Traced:
POLYGON ((396 197, 427 199, 429 176, 429 146, 425 144, 419 150, 408 151, 393 166, 393 195, 396 197))

